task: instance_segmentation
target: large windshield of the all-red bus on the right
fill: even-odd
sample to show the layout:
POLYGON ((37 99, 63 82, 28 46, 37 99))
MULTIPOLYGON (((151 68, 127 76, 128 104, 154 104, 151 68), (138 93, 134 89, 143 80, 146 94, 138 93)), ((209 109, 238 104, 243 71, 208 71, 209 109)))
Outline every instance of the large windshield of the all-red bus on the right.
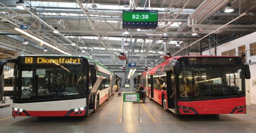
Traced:
POLYGON ((183 66, 179 74, 179 98, 204 99, 245 95, 242 66, 183 66))

